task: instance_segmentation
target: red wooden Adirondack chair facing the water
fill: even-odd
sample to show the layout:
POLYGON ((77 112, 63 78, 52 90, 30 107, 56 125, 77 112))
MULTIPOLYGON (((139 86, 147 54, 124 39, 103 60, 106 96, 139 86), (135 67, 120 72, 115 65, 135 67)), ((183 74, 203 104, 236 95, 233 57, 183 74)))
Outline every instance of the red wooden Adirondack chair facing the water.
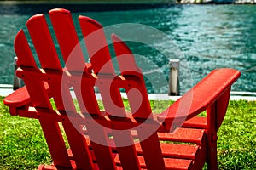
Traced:
POLYGON ((4 99, 11 115, 38 119, 42 126, 53 163, 38 169, 201 169, 205 162, 209 169, 217 169, 217 132, 239 71, 212 71, 166 111, 152 114, 143 73, 125 42, 112 37, 121 71, 116 75, 99 23, 79 16, 88 64, 76 47, 79 38, 69 11, 53 9, 49 19, 66 67, 61 67, 44 14, 32 16, 26 26, 41 68, 20 30, 15 37, 16 74, 26 87, 4 99), (92 32, 97 32, 94 37, 92 32), (105 111, 99 109, 95 86, 105 111), (125 112, 119 88, 125 88, 131 113, 125 112), (197 116, 202 111, 207 111, 207 117, 197 116))

